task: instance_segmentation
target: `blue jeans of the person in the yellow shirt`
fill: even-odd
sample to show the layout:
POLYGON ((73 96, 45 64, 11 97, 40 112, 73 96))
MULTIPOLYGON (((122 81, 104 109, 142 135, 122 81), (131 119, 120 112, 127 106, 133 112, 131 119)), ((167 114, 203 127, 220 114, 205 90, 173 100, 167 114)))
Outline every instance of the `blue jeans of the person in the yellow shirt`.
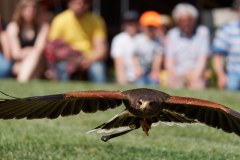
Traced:
MULTIPOLYGON (((57 79, 60 81, 70 80, 71 75, 66 71, 65 61, 58 62, 55 66, 55 73, 57 79)), ((89 66, 87 69, 87 78, 91 82, 104 83, 106 82, 106 65, 104 62, 95 62, 89 66)))

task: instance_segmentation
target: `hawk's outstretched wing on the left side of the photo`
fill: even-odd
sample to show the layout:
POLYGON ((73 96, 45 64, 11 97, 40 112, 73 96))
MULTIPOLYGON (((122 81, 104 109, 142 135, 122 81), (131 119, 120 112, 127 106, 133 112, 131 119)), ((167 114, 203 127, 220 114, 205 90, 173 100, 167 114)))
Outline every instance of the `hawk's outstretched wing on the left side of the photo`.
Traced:
POLYGON ((0 118, 50 118, 105 111, 122 104, 120 91, 80 91, 65 94, 0 100, 0 118))

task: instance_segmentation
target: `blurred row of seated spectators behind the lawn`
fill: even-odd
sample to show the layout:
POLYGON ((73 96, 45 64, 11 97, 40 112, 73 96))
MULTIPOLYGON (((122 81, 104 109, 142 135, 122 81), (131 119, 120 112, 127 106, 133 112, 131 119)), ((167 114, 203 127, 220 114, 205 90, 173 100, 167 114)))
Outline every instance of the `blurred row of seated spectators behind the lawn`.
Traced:
POLYGON ((0 78, 240 90, 240 0, 205 12, 197 2, 132 9, 122 0, 120 16, 108 6, 107 17, 94 0, 8 4, 15 8, 11 18, 0 11, 0 78), (109 25, 117 20, 117 29, 109 25))

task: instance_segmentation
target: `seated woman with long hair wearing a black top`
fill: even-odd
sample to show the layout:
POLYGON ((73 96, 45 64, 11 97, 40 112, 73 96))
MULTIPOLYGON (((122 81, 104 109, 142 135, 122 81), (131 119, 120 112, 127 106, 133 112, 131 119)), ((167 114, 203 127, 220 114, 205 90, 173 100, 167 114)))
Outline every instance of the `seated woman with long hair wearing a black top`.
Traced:
POLYGON ((41 21, 35 0, 20 0, 7 26, 13 61, 12 72, 19 82, 39 78, 49 25, 41 21))

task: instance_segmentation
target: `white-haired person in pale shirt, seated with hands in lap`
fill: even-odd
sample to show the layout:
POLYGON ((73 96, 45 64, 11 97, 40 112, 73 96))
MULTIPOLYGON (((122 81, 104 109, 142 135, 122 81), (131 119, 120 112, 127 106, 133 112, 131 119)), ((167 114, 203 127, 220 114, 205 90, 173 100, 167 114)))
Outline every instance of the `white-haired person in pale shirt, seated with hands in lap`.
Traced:
POLYGON ((203 73, 210 53, 209 30, 197 25, 199 13, 191 4, 178 4, 172 16, 176 27, 167 33, 165 51, 168 86, 203 89, 203 73))

